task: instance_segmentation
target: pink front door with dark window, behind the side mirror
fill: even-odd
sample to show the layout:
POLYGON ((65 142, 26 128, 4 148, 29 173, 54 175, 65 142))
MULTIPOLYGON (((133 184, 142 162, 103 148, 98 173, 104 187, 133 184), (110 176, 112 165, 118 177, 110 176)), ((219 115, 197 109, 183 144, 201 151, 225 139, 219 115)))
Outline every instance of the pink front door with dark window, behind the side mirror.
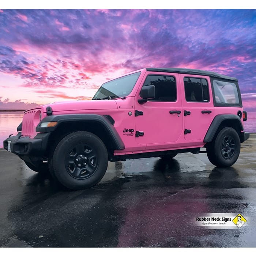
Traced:
POLYGON ((138 144, 155 144, 155 149, 163 148, 177 142, 182 136, 183 116, 178 79, 178 74, 146 73, 135 97, 135 134, 138 144), (148 85, 155 86, 155 98, 140 104, 140 89, 148 85))

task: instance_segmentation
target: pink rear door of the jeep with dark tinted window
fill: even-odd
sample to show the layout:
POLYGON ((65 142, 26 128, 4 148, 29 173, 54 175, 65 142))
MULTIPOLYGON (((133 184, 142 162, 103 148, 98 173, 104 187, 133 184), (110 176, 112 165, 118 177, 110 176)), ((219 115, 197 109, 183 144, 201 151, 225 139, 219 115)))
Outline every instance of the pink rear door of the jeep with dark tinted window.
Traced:
POLYGON ((214 118, 210 79, 180 74, 185 140, 203 140, 214 118))

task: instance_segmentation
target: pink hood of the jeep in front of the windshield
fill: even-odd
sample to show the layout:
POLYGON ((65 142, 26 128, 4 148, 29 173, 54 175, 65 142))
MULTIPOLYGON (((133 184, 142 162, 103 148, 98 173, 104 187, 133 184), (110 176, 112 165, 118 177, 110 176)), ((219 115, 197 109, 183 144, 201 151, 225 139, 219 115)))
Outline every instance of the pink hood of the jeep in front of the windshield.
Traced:
POLYGON ((117 109, 115 100, 82 100, 82 101, 61 101, 40 106, 44 112, 51 107, 53 112, 93 110, 93 109, 117 109))

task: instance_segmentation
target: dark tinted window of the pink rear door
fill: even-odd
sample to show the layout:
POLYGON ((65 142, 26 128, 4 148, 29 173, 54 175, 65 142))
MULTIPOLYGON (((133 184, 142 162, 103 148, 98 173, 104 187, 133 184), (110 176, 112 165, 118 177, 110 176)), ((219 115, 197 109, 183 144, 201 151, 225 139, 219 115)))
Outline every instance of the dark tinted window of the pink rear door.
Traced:
POLYGON ((209 89, 206 79, 184 78, 185 97, 188 102, 208 102, 209 89))

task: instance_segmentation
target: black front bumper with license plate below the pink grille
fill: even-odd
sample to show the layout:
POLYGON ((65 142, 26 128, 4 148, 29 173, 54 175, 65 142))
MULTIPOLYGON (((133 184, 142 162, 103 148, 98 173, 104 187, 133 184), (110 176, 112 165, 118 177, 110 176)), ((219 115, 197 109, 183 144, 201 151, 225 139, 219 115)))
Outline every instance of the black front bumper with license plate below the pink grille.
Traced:
POLYGON ((21 137, 21 132, 4 140, 4 149, 18 155, 42 157, 45 154, 50 133, 38 133, 35 138, 21 137))

